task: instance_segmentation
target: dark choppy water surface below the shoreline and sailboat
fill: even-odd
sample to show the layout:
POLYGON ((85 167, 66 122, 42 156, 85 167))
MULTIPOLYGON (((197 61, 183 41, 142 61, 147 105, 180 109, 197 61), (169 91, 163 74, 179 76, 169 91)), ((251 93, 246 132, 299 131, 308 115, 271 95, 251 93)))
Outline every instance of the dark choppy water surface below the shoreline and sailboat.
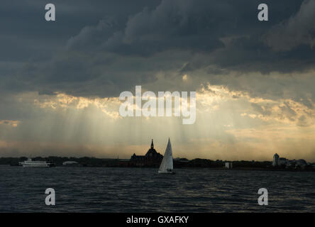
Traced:
POLYGON ((0 166, 0 212, 315 212, 315 172, 0 166), (258 205, 258 189, 269 205, 258 205), (53 188, 56 205, 45 205, 53 188))

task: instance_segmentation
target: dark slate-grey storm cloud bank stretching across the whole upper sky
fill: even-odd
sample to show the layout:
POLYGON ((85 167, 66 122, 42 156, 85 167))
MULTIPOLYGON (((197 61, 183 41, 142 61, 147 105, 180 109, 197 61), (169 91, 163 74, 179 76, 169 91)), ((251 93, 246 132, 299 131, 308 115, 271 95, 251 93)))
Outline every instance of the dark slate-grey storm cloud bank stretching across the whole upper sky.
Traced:
MULTIPOLYGON (((5 1, 1 91, 118 96, 136 84, 158 83, 156 74, 164 72, 174 84, 162 81, 157 89, 179 89, 177 76, 190 73, 187 89, 210 82, 254 96, 280 97, 287 87, 298 93, 294 87, 307 82, 266 75, 257 86, 257 80, 240 84, 217 75, 313 68, 314 0, 302 2, 265 1, 270 21, 260 22, 258 0, 54 1, 57 20, 48 23, 42 1, 5 1), (291 37, 297 27, 301 35, 291 37)), ((311 106, 304 94, 292 98, 311 106)))

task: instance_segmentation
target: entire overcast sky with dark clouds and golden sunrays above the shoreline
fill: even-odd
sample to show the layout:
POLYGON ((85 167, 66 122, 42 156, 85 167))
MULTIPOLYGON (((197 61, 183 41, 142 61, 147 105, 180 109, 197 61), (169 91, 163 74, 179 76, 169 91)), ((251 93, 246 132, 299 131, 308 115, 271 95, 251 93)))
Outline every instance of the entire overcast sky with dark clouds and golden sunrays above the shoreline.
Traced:
POLYGON ((1 1, 0 156, 315 161, 315 0, 1 1), (119 116, 123 91, 196 91, 197 118, 119 116))

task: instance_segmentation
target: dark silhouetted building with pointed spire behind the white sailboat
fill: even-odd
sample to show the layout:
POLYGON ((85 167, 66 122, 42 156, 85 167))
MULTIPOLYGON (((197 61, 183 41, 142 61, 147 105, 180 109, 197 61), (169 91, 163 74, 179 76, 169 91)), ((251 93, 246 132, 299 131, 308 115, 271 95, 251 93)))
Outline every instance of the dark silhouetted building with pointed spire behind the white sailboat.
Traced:
POLYGON ((153 140, 151 142, 151 148, 148 150, 148 152, 145 155, 136 155, 133 154, 131 156, 130 162, 131 165, 136 166, 160 166, 160 163, 162 162, 163 155, 160 153, 157 153, 157 151, 154 149, 153 140))

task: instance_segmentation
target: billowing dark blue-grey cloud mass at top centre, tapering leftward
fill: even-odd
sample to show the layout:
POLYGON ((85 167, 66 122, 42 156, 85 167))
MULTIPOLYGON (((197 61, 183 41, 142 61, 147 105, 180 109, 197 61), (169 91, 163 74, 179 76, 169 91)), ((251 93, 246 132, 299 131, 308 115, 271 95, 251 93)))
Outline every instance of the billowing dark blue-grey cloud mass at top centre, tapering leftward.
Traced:
POLYGON ((222 36, 251 32, 246 30, 253 29, 255 20, 250 17, 255 18, 257 6, 253 1, 246 4, 253 10, 242 16, 242 2, 161 1, 155 9, 145 7, 131 15, 123 29, 115 29, 111 21, 83 28, 68 46, 78 49, 89 43, 121 55, 143 56, 165 50, 211 52, 223 48, 222 36))

